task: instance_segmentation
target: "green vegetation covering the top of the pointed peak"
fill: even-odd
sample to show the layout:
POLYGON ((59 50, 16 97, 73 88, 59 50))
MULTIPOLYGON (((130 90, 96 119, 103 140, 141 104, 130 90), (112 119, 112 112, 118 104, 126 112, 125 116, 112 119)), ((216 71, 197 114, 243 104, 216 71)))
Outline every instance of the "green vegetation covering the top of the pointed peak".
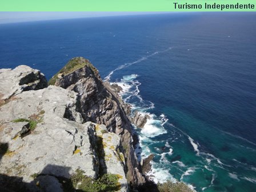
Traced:
POLYGON ((56 80, 58 79, 58 75, 67 75, 72 73, 73 71, 80 69, 85 66, 89 66, 90 69, 95 73, 97 69, 91 65, 89 60, 82 57, 75 57, 71 59, 61 70, 58 71, 48 82, 48 85, 54 85, 56 80))

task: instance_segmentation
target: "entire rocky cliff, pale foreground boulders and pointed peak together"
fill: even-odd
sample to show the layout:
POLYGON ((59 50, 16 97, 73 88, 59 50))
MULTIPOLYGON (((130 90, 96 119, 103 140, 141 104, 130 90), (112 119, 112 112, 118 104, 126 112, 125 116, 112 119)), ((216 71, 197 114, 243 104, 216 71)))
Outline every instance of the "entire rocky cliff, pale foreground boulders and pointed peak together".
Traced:
POLYGON ((74 58, 49 84, 28 66, 0 70, 0 186, 65 191, 66 183, 76 181, 80 189, 87 180, 73 179, 78 173, 95 183, 107 174, 117 179, 112 188, 103 182, 101 190, 143 185, 129 105, 98 70, 74 58))

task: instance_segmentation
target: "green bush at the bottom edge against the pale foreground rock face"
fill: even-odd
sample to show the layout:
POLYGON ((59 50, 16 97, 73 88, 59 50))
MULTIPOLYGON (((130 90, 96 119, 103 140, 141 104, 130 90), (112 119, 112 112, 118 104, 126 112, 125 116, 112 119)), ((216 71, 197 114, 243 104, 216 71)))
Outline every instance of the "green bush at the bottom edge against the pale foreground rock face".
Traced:
MULTIPOLYGON (((122 176, 121 176, 122 177, 122 176)), ((86 191, 103 192, 117 191, 121 189, 121 183, 118 182, 119 175, 103 174, 98 179, 93 179, 85 175, 83 170, 77 169, 75 174, 71 175, 70 181, 63 183, 64 191, 86 191)))

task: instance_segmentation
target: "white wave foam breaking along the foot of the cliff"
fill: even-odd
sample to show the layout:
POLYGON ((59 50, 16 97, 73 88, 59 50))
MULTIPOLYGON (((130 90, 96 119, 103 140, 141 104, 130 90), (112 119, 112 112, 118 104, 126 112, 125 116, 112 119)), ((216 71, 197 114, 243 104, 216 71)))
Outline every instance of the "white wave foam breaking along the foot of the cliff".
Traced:
MULTIPOLYGON (((157 53, 154 53, 154 54, 157 54, 157 53)), ((122 69, 123 67, 126 67, 126 66, 120 66, 118 69, 122 69)), ((111 73, 109 74, 109 77, 107 78, 110 79, 113 73, 114 71, 111 71, 111 73)), ((125 102, 127 103, 129 103, 129 101, 134 102, 134 99, 135 99, 134 103, 130 103, 132 113, 134 113, 134 111, 136 110, 138 111, 138 113, 142 115, 149 115, 150 117, 149 119, 147 119, 147 122, 143 127, 143 129, 141 129, 141 132, 140 132, 141 134, 139 135, 140 143, 137 147, 135 147, 135 153, 137 154, 138 160, 140 160, 141 157, 147 157, 152 153, 150 150, 150 145, 153 145, 155 142, 151 138, 154 138, 157 135, 167 133, 163 125, 165 125, 168 119, 165 117, 164 114, 161 114, 160 117, 157 117, 157 115, 155 114, 147 113, 147 110, 154 108, 154 103, 149 101, 143 101, 141 95, 139 95, 139 86, 141 85, 141 83, 135 80, 137 77, 138 77, 137 74, 126 75, 121 79, 120 82, 116 82, 116 83, 122 87, 122 91, 119 94, 122 96, 125 102), (139 146, 141 146, 142 151, 141 149, 139 149, 139 146)), ((160 155, 161 161, 165 163, 169 162, 166 158, 166 155, 173 154, 173 149, 171 148, 168 142, 166 142, 166 147, 169 148, 168 152, 162 153, 162 154, 156 154, 156 155, 160 155)), ((152 170, 150 171, 150 173, 147 173, 147 175, 149 175, 150 179, 152 179, 154 182, 165 182, 167 179, 173 179, 173 177, 170 175, 170 173, 167 170, 162 169, 160 167, 155 167, 155 165, 159 165, 159 164, 154 163, 154 161, 152 161, 151 163, 152 163, 152 170)), ((181 163, 180 165, 183 166, 181 163)), ((175 179, 173 179, 173 181, 175 181, 175 179)))

